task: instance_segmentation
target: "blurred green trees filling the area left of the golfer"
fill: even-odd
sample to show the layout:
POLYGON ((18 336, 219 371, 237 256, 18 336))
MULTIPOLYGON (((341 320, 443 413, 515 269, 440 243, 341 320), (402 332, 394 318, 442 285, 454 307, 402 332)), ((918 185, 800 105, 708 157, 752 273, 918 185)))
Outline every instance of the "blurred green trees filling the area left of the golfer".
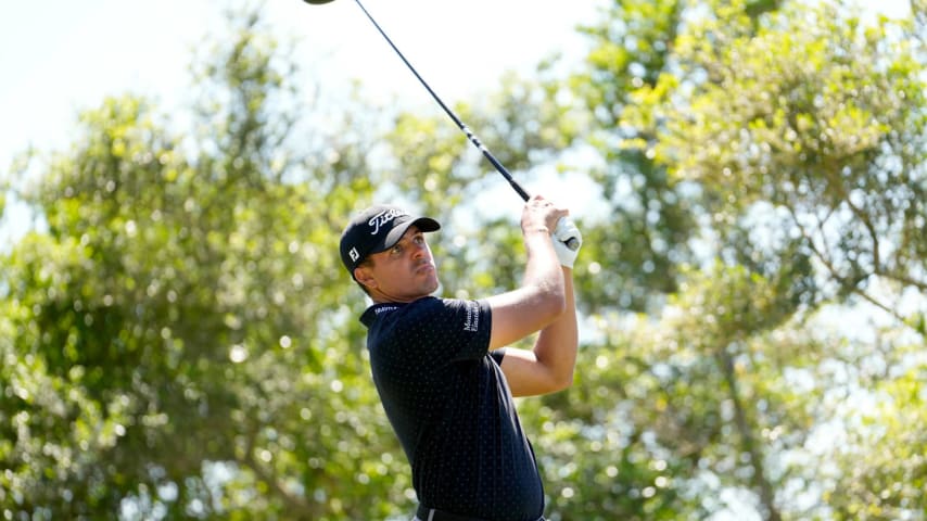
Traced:
POLYGON ((2 259, 8 517, 408 508, 331 254, 376 181, 370 137, 343 122, 288 149, 291 61, 257 14, 232 20, 199 68, 191 134, 149 101, 110 98, 71 150, 26 166, 40 183, 20 196, 48 231, 2 259), (379 459, 358 462, 360 447, 379 459))

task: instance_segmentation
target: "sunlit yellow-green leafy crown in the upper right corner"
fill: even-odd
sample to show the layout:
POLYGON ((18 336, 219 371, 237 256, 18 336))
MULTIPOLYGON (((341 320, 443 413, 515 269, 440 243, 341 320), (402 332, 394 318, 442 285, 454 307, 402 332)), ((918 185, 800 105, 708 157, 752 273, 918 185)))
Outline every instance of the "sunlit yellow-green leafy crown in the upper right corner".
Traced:
POLYGON ((715 220, 759 203, 782 209, 831 293, 877 300, 866 292, 875 277, 923 291, 912 274, 925 258, 924 63, 904 26, 862 27, 843 9, 790 4, 755 30, 693 24, 678 59, 685 76, 708 80, 671 101, 683 82, 666 76, 636 94, 628 122, 664 115, 655 158, 706 188, 715 220))

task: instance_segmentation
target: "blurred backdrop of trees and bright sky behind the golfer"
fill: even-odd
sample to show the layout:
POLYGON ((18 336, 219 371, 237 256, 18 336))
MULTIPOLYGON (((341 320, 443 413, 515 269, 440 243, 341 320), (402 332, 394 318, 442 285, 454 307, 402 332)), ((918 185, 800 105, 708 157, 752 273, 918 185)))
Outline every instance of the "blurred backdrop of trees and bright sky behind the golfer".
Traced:
MULTIPOLYGON (((924 0, 367 0, 571 207, 551 520, 927 519, 924 0)), ((344 223, 516 287, 520 199, 350 0, 0 7, 0 516, 408 519, 344 223), (49 9, 50 8, 50 9, 49 9)))

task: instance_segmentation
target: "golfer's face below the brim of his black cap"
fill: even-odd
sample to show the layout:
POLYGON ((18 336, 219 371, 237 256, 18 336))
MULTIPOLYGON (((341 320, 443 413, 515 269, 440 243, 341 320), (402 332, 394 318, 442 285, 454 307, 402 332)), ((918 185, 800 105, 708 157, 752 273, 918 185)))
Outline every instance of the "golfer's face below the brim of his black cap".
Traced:
POLYGON ((437 290, 437 270, 431 249, 418 227, 385 252, 370 255, 370 263, 355 270, 373 302, 412 302, 437 290))

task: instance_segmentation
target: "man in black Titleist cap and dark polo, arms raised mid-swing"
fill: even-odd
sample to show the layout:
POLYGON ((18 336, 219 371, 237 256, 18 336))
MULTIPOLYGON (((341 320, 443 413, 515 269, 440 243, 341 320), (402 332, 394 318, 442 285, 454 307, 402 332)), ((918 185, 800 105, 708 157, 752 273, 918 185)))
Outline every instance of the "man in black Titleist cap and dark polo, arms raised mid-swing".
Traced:
POLYGON ((434 219, 378 205, 342 233, 342 262, 373 301, 360 321, 373 383, 411 467, 416 520, 544 519, 541 474, 512 396, 573 380, 576 251, 562 241, 582 237, 567 215, 542 196, 529 200, 521 287, 473 301, 431 296, 439 278, 426 233, 440 229, 434 219), (503 348, 538 331, 532 351, 503 348))

